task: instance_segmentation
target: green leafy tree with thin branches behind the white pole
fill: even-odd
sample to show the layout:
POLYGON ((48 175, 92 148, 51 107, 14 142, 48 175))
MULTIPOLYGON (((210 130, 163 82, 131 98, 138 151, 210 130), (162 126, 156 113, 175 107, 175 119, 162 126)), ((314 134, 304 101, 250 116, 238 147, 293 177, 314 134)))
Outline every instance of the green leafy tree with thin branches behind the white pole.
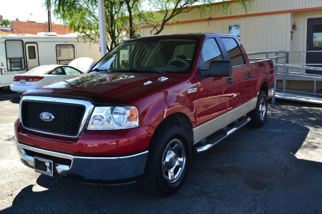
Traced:
MULTIPOLYGON (((230 13, 230 4, 248 12, 254 0, 222 0, 220 8, 230 13)), ((99 43, 99 21, 97 0, 51 0, 47 8, 54 8, 56 18, 69 24, 82 39, 99 43)), ((151 34, 160 34, 166 23, 175 22, 179 14, 193 9, 209 10, 218 0, 105 0, 105 19, 108 51, 122 40, 137 36, 140 25, 152 26, 151 34), (148 8, 148 9, 147 9, 148 8), (126 32, 125 34, 123 32, 126 32)))

